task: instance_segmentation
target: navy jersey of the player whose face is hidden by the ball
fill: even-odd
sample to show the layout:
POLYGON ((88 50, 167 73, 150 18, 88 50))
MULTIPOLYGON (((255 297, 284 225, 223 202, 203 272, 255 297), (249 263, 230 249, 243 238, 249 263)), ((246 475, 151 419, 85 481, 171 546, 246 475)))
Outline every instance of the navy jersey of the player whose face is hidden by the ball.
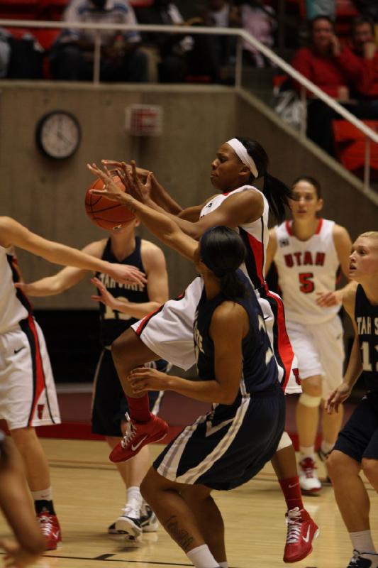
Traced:
MULTIPOLYGON (((118 259, 113 255, 111 251, 111 239, 108 239, 104 249, 104 253, 101 258, 104 261, 120 264, 131 264, 139 268, 141 272, 145 272, 143 268, 142 256, 140 253, 140 236, 135 236, 135 249, 133 252, 123 258, 123 261, 118 261, 118 259)), ((111 295, 114 297, 124 297, 129 302, 135 302, 142 304, 144 302, 149 302, 147 286, 143 288, 138 283, 133 284, 119 284, 111 276, 97 272, 96 277, 101 280, 104 284, 106 290, 109 290, 111 295)), ((111 307, 104 305, 99 302, 100 307, 100 341, 103 346, 109 346, 113 343, 119 335, 121 335, 130 325, 134 324, 138 320, 134 317, 118 312, 118 310, 112 310, 111 307)))

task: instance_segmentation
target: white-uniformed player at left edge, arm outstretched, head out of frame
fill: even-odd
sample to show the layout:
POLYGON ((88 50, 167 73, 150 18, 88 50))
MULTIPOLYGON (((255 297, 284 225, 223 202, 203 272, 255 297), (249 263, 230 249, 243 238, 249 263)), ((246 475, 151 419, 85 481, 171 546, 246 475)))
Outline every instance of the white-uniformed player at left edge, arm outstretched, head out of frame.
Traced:
POLYGON ((48 461, 35 426, 57 424, 60 415, 45 339, 28 298, 15 286, 21 280, 15 246, 53 263, 105 271, 123 283, 143 285, 145 276, 133 266, 101 261, 43 239, 10 217, 0 217, 0 417, 6 420, 23 458, 45 547, 54 550, 62 537, 48 461))

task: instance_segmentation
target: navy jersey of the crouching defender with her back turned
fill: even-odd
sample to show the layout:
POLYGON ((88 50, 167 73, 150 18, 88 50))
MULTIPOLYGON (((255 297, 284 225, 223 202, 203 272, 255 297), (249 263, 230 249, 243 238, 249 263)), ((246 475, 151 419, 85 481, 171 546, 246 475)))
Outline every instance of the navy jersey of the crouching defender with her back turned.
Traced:
MULTIPOLYGON (((240 405, 240 398, 243 396, 269 393, 279 385, 277 364, 270 348, 260 304, 248 278, 240 270, 238 270, 238 278, 247 288, 247 295, 237 298, 235 302, 243 306, 248 313, 250 329, 243 339, 243 369, 239 392, 233 403, 235 407, 240 405)), ((210 381, 214 378, 214 344, 209 335, 209 328, 213 312, 224 301, 226 298, 221 294, 207 301, 204 292, 197 308, 194 321, 194 344, 198 372, 203 381, 210 381)))

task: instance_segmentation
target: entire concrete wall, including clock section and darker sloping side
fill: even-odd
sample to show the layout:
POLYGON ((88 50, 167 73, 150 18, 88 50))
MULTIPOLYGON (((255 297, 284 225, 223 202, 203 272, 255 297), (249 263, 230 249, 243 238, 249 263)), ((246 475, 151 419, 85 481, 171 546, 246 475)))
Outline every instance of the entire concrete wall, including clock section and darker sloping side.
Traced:
MULTIPOLYGON (((57 83, 0 82, 0 212, 18 219, 48 239, 71 246, 104 237, 84 212, 84 195, 93 179, 87 162, 101 158, 130 160, 153 170, 184 207, 203 202, 213 191, 210 163, 216 148, 235 135, 257 138, 271 156, 271 172, 286 182, 307 173, 321 180, 324 216, 350 229, 352 237, 377 228, 377 207, 357 191, 348 174, 335 170, 322 153, 301 146, 273 114, 252 97, 226 87, 91 86, 57 83), (135 139, 124 128, 132 103, 160 104, 164 131, 159 138, 135 139), (251 106, 252 104, 252 106, 251 106), (77 153, 61 163, 45 158, 35 146, 40 116, 65 109, 82 126, 77 153)), ((143 236, 148 236, 141 231, 143 236)), ((153 239, 152 239, 153 240, 153 239)), ((21 251, 26 281, 55 272, 55 267, 21 251)), ((194 275, 190 264, 167 251, 171 294, 177 295, 194 275)), ((91 285, 33 302, 36 307, 93 307, 91 285)))

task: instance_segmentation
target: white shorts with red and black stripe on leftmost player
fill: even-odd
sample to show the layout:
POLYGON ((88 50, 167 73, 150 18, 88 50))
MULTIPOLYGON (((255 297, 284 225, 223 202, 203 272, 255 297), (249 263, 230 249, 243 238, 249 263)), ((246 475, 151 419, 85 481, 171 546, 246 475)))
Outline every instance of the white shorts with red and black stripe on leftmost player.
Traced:
POLYGON ((45 339, 33 316, 0 335, 0 418, 9 430, 60 423, 45 339))

